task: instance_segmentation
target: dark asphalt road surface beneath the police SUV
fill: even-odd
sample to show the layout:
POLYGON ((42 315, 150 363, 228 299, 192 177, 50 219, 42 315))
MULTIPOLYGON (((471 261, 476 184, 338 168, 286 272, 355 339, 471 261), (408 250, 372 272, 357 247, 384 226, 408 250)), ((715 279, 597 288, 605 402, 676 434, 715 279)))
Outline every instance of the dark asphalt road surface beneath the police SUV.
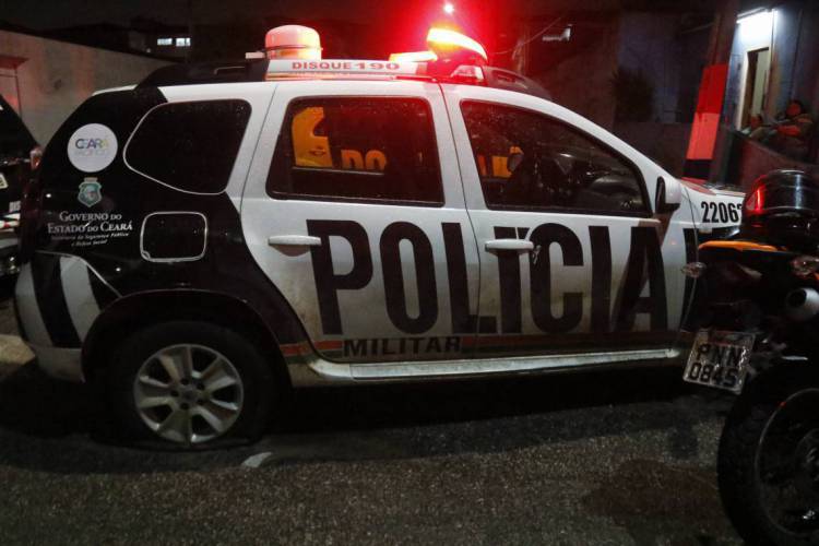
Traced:
POLYGON ((23 364, 9 307, 3 544, 738 543, 714 473, 731 401, 677 370, 305 391, 254 446, 151 452, 23 364))

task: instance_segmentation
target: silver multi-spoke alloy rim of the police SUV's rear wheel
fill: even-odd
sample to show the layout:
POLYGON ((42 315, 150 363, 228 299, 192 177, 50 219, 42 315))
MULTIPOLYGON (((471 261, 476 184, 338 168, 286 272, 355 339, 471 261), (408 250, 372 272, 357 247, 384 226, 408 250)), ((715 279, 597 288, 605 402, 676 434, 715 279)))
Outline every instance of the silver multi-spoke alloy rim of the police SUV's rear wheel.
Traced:
POLYGON ((204 345, 157 351, 142 363, 133 381, 140 418, 175 443, 202 443, 225 435, 236 424, 244 397, 236 367, 204 345))

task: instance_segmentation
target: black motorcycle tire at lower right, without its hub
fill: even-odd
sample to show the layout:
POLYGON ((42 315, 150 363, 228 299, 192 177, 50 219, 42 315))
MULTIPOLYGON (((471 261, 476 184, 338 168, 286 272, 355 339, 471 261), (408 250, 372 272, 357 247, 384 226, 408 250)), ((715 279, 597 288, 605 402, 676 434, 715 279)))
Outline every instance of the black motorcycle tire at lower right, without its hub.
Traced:
MULTIPOLYGON (((717 455, 720 496, 728 519, 748 544, 816 544, 816 538, 811 542, 810 537, 816 533, 792 532, 769 514, 762 500, 757 458, 763 435, 785 406, 783 403, 795 393, 812 391, 817 385, 819 380, 810 369, 775 369, 748 384, 728 414, 717 455)), ((795 451, 788 453, 796 459, 795 451)))

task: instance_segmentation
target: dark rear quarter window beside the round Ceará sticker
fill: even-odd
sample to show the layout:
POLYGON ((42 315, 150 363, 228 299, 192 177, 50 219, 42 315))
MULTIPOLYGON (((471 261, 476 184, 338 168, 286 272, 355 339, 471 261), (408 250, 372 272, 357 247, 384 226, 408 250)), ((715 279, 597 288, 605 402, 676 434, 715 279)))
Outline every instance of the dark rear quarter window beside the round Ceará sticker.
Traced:
POLYGON ((250 118, 245 100, 170 103, 151 110, 124 152, 136 173, 194 193, 227 186, 250 118))

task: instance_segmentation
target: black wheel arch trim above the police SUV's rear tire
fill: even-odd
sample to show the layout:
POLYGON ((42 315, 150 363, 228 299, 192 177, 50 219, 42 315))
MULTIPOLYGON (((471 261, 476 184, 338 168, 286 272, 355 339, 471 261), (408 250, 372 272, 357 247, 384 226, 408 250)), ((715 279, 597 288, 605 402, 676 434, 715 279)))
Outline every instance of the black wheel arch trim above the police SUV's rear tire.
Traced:
POLYGON ((209 290, 154 290, 122 297, 108 306, 88 331, 82 347, 83 375, 94 381, 106 367, 106 355, 124 336, 157 322, 207 321, 237 331, 270 363, 276 378, 290 384, 275 333, 248 302, 209 290))

